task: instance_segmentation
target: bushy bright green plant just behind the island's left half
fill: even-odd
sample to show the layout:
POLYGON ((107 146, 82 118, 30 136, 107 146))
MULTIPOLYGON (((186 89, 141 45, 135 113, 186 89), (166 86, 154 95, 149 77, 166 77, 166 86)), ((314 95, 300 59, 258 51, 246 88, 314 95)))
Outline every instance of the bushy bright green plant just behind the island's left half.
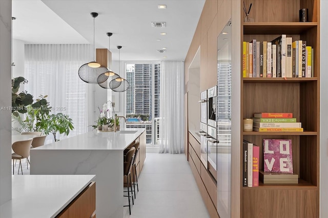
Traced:
POLYGON ((39 117, 36 126, 38 130, 42 130, 46 135, 52 133, 55 141, 59 141, 56 138, 57 133, 68 135, 70 130, 74 129, 72 119, 63 113, 39 117))

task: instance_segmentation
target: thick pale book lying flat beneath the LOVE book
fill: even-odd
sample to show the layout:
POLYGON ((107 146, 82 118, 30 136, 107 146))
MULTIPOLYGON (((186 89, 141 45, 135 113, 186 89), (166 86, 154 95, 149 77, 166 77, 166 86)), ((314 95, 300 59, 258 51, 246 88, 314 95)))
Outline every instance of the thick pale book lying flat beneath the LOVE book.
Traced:
POLYGON ((260 171, 259 180, 263 184, 298 184, 298 175, 260 171))

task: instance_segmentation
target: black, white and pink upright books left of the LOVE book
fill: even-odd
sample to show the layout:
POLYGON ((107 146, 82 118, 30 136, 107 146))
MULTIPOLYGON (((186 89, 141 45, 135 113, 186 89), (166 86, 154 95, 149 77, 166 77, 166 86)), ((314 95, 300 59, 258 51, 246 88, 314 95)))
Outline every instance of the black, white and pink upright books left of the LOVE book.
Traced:
POLYGON ((257 187, 259 185, 260 148, 255 144, 243 140, 243 178, 244 187, 257 187))

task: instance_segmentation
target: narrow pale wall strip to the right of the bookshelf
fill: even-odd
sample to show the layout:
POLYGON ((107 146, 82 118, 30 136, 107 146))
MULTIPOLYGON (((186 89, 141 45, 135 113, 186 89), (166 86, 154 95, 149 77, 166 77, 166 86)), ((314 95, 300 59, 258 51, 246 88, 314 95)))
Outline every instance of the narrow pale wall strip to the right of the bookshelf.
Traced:
POLYGON ((320 1, 320 217, 328 217, 328 1, 320 1))

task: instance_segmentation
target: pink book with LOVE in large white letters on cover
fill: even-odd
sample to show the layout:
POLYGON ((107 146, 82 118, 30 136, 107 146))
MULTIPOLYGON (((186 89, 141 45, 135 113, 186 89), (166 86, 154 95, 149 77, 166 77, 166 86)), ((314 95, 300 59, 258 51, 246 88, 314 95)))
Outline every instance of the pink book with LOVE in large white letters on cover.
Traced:
POLYGON ((291 139, 263 139, 264 172, 293 173, 291 139))

